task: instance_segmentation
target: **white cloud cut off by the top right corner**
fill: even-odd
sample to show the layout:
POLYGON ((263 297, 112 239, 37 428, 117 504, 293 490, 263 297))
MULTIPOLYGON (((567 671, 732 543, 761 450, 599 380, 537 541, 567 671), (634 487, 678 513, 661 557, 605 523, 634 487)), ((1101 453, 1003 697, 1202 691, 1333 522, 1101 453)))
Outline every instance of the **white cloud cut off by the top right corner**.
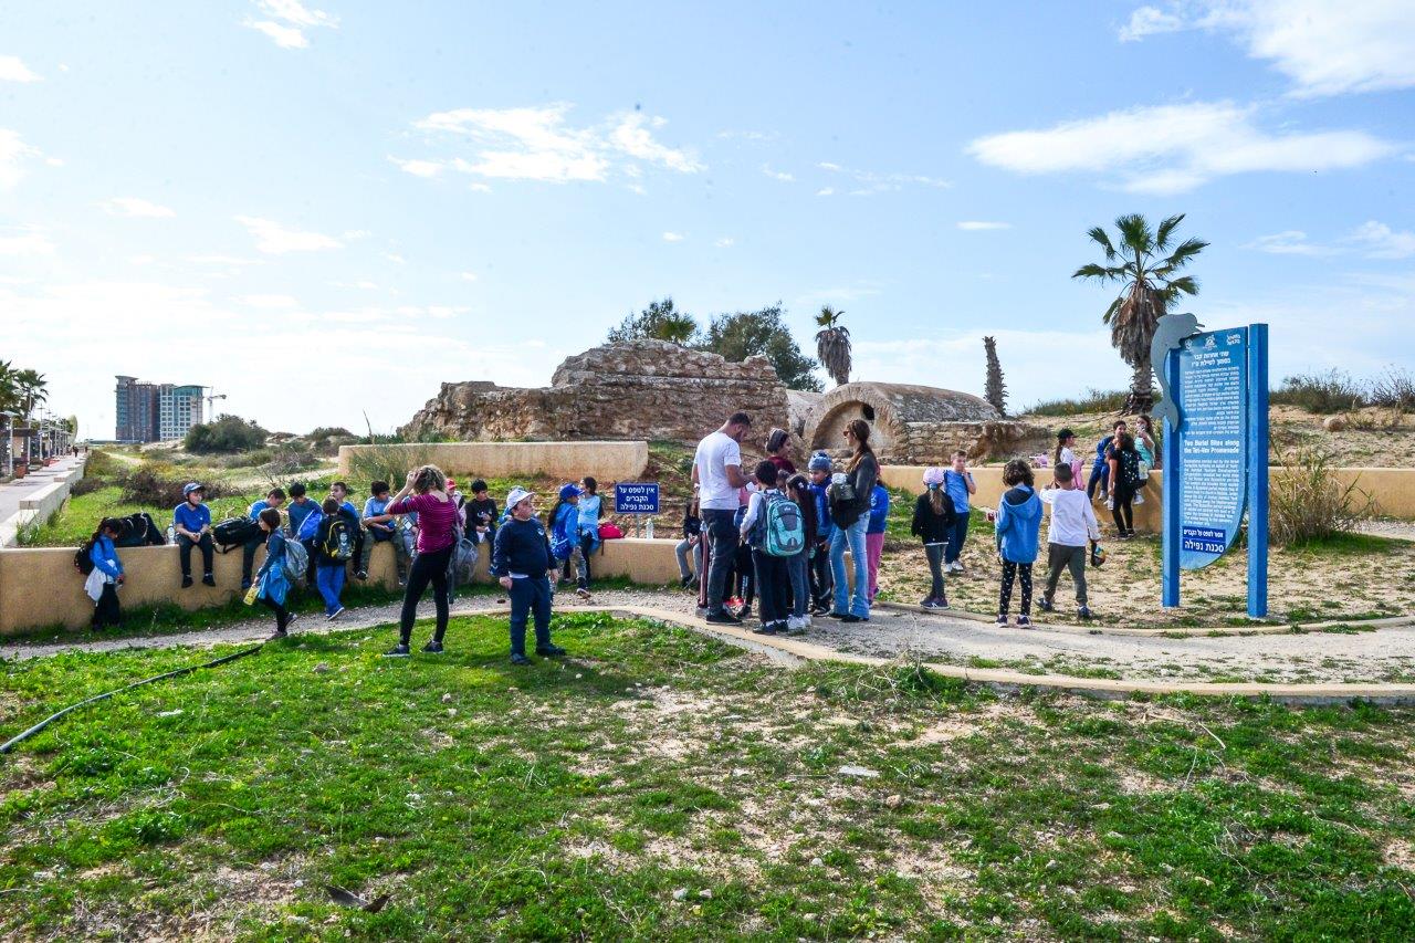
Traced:
POLYGON ((1409 0, 1186 0, 1169 11, 1139 7, 1121 38, 1182 28, 1231 34, 1292 79, 1298 96, 1415 86, 1409 0))

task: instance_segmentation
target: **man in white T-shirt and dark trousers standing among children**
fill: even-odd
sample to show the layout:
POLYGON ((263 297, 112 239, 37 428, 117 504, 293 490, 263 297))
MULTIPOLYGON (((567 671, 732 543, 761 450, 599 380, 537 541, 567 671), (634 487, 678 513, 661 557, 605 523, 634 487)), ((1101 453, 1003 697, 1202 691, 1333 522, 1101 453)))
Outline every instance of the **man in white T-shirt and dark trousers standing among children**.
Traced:
MULTIPOLYGON (((698 443, 693 456, 693 483, 703 521, 703 544, 708 548, 708 579, 705 605, 708 622, 740 624, 741 620, 723 610, 727 593, 727 572, 737 555, 737 493, 746 487, 741 473, 741 438, 751 429, 751 416, 734 412, 720 429, 698 443)), ((702 573, 702 569, 698 571, 702 573)))

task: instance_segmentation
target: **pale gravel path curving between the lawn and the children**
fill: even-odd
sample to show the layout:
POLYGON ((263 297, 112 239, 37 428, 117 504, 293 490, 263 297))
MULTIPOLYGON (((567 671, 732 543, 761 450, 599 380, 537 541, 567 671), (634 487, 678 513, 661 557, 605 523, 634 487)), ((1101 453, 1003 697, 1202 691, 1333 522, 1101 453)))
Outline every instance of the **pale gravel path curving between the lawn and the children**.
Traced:
MULTIPOLYGON (((607 590, 591 600, 597 606, 652 606, 692 615, 693 598, 664 590, 607 590)), ((474 613, 498 606, 497 596, 463 600, 454 613, 474 613)), ((576 605, 562 598, 559 610, 576 605)), ((301 631, 338 631, 388 626, 398 619, 398 606, 348 610, 338 622, 304 617, 294 623, 301 631)), ((430 603, 419 612, 432 616, 430 603)), ((389 641, 391 629, 385 629, 389 641)), ((0 647, 8 658, 37 658, 67 650, 112 651, 171 646, 211 646, 259 641, 270 633, 270 620, 253 620, 184 634, 115 639, 81 644, 10 644, 0 647)), ((427 634, 426 624, 413 633, 415 641, 427 634)), ((1223 681, 1409 681, 1415 680, 1415 626, 1360 631, 1300 634, 1139 637, 1023 631, 941 615, 877 609, 869 623, 842 624, 818 619, 808 640, 828 647, 879 657, 918 657, 928 661, 975 667, 1016 667, 1057 674, 1122 678, 1174 678, 1223 681)), ((450 639, 456 644, 456 637, 450 639)))

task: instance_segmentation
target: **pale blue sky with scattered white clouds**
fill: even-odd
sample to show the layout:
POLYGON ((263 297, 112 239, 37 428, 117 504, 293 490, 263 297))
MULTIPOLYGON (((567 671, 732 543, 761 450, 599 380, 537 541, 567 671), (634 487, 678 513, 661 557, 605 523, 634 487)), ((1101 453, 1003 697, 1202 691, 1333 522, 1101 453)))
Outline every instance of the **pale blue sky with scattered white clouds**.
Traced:
POLYGON ((0 358, 272 429, 541 385, 625 313, 846 310, 855 377, 1128 370, 1085 231, 1189 214, 1274 371, 1415 354, 1411 0, 10 4, 0 358))

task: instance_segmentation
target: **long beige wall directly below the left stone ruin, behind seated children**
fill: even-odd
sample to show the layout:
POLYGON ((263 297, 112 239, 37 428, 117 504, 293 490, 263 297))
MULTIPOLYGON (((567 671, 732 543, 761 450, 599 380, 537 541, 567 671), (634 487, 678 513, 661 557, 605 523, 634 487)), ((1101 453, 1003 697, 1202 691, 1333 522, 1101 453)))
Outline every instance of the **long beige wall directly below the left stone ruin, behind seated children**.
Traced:
MULTIPOLYGON (((436 445, 340 446, 340 474, 351 474, 354 456, 385 453, 389 449, 409 455, 415 462, 430 462, 443 471, 461 477, 514 477, 545 473, 576 481, 590 474, 600 481, 630 481, 648 467, 647 442, 444 442, 436 445)), ((396 488, 402 481, 391 481, 396 488)))

